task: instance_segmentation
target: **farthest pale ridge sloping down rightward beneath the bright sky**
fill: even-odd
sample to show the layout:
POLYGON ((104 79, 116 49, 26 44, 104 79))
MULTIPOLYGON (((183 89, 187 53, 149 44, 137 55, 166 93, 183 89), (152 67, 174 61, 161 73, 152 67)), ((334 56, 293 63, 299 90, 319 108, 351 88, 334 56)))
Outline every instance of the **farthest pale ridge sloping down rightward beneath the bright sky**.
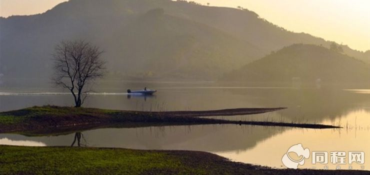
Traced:
MULTIPOLYGON (((180 5, 177 5, 178 9, 171 11, 174 15, 184 16, 226 31, 238 38, 255 44, 263 49, 264 53, 269 53, 270 51, 293 43, 316 44, 327 48, 332 43, 332 41, 312 36, 308 33, 288 31, 261 18, 258 14, 248 9, 209 7, 194 5, 185 1, 180 1, 179 3, 180 5)), ((344 53, 370 62, 370 55, 351 49, 347 45, 339 45, 343 48, 344 53)))

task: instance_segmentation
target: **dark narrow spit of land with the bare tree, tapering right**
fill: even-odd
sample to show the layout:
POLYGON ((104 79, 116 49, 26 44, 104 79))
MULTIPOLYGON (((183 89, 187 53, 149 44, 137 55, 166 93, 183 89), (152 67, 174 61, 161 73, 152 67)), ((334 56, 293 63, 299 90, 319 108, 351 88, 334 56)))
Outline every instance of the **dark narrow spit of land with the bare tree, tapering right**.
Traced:
POLYGON ((266 126, 290 126, 305 128, 334 128, 336 126, 308 123, 283 123, 267 121, 230 121, 201 118, 197 116, 241 115, 269 112, 282 108, 235 108, 207 111, 128 111, 97 108, 75 108, 59 106, 34 106, 20 110, 0 112, 0 133, 34 132, 50 133, 80 130, 93 127, 120 125, 181 125, 181 124, 253 124, 266 126))

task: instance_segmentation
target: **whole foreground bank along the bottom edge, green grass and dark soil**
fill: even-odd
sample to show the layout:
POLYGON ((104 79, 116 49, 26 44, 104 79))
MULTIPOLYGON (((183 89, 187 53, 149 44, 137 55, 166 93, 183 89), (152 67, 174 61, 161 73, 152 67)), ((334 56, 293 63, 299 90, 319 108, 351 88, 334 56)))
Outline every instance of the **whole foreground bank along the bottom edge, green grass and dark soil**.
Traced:
POLYGON ((200 151, 0 145, 0 174, 368 174, 271 169, 200 151))

